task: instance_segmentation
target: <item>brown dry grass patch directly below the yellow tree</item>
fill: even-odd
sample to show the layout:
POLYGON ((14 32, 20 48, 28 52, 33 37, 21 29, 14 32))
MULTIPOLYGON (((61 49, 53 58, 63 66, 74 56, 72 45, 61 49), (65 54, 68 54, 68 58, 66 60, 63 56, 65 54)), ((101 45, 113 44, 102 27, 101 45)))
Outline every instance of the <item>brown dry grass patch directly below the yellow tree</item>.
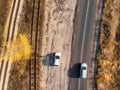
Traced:
POLYGON ((10 71, 9 90, 28 90, 28 66, 27 60, 14 62, 10 71))

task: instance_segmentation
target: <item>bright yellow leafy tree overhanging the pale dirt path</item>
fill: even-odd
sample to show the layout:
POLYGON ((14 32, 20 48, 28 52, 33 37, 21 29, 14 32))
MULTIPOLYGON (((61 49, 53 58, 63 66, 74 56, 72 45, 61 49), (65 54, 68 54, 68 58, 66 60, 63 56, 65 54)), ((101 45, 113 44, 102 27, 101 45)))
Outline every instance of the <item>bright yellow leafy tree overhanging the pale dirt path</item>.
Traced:
POLYGON ((10 58, 12 62, 23 59, 28 60, 31 52, 31 46, 27 36, 20 34, 15 40, 7 43, 4 60, 9 60, 10 58))

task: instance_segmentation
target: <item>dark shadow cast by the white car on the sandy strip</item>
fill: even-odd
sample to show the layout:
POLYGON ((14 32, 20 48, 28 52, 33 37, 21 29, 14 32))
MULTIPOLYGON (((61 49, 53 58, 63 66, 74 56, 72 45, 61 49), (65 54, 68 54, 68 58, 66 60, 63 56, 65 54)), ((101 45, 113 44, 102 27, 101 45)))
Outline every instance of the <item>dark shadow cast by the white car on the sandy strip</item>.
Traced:
POLYGON ((42 65, 54 66, 54 56, 55 56, 55 53, 50 53, 42 56, 42 65))

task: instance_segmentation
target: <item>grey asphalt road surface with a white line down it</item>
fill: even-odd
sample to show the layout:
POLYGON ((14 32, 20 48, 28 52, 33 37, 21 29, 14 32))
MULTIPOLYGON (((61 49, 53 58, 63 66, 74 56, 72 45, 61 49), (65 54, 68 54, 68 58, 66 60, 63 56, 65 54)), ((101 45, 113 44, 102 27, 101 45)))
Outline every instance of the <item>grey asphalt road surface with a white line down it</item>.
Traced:
MULTIPOLYGON (((96 0, 80 0, 78 9, 70 68, 77 67, 79 70, 79 66, 75 66, 77 63, 88 63, 91 60, 90 49, 92 37, 94 37, 93 33, 95 32, 93 25, 95 23, 96 0)), ((73 73, 74 75, 71 76, 73 78, 70 78, 69 89, 88 90, 88 79, 78 78, 79 73, 76 73, 75 69, 73 73)))

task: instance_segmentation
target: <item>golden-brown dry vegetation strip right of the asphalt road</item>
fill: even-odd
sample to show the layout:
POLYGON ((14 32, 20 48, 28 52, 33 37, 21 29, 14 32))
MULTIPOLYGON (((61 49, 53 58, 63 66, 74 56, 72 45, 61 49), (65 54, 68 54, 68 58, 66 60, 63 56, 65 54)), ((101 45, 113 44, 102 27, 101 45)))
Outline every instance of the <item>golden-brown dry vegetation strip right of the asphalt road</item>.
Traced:
POLYGON ((105 0, 97 59, 97 89, 120 90, 120 0, 105 0))

